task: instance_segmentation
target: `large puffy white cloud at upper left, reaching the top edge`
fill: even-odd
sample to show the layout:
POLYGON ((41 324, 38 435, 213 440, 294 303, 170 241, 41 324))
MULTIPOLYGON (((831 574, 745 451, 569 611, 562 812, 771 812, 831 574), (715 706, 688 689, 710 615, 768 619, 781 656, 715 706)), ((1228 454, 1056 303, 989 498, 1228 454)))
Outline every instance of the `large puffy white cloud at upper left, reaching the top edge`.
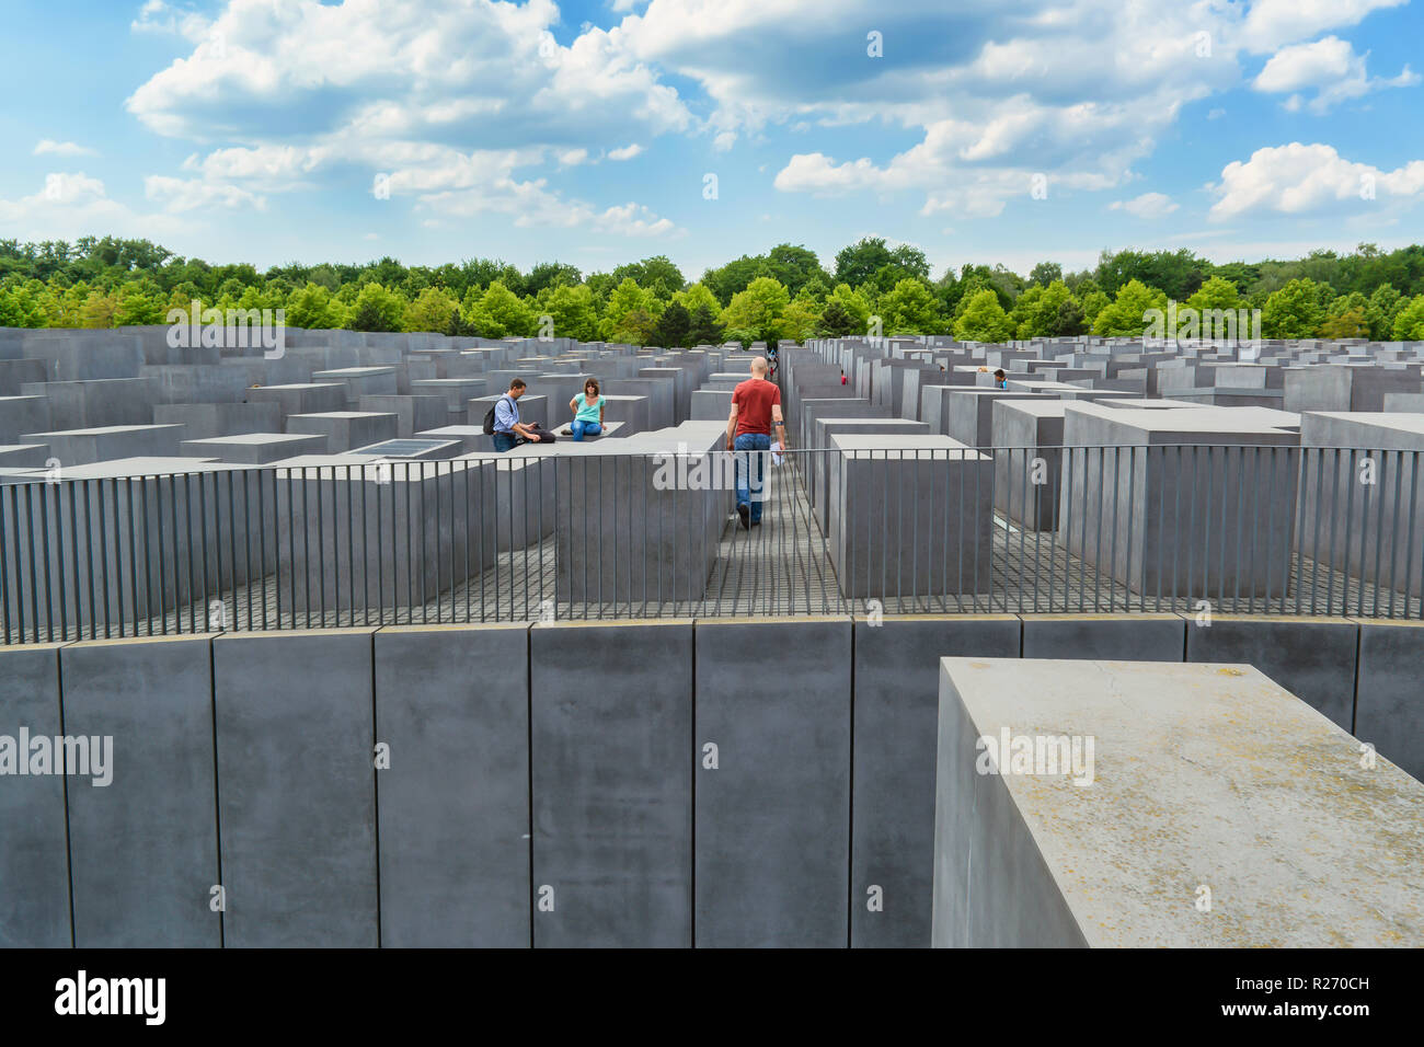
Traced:
MULTIPOLYGON (((392 195, 447 214, 592 222, 588 205, 514 170, 594 162, 629 130, 658 135, 696 123, 614 33, 587 27, 562 47, 550 34, 558 19, 553 0, 229 0, 192 53, 150 77, 127 107, 158 134, 226 142, 184 164, 197 178, 154 184, 171 207, 259 202, 258 194, 309 185, 318 171, 355 167, 387 175, 392 195), (463 152, 471 141, 481 148, 463 152)), ((641 151, 631 144, 608 155, 641 151)))

